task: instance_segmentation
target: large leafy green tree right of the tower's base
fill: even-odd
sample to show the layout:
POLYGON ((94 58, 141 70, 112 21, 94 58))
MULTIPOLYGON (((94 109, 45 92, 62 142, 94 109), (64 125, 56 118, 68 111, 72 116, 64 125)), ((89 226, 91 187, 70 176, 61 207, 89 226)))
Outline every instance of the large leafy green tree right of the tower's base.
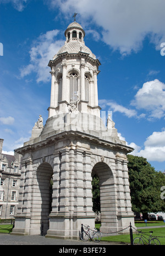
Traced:
POLYGON ((161 199, 161 186, 165 185, 164 174, 156 172, 144 157, 128 154, 128 161, 132 210, 142 212, 143 215, 165 211, 165 203, 161 199))

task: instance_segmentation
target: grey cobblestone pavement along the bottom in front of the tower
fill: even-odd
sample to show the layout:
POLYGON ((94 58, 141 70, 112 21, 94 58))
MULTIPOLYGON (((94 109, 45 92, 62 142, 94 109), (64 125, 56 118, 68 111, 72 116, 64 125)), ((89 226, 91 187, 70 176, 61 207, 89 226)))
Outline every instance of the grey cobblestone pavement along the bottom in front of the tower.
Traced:
POLYGON ((92 241, 75 241, 75 240, 64 240, 46 238, 45 236, 14 236, 11 234, 0 234, 0 245, 58 245, 58 246, 103 246, 103 245, 119 245, 115 242, 103 242, 95 243, 92 241))

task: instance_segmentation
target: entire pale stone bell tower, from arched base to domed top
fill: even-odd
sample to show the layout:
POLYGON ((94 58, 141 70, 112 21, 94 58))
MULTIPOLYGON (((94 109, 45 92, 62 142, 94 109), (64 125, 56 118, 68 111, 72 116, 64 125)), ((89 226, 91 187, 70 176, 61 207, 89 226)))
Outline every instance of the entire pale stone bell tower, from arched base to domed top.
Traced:
MULTIPOLYGON (((101 232, 134 225, 127 153, 111 115, 100 118, 97 74, 100 61, 85 46, 79 23, 65 30, 65 44, 48 63, 51 103, 48 119, 32 129, 24 146, 19 205, 13 234, 79 238, 81 223, 95 226, 92 177, 100 180, 101 232)), ((125 232, 125 231, 124 231, 125 232)))

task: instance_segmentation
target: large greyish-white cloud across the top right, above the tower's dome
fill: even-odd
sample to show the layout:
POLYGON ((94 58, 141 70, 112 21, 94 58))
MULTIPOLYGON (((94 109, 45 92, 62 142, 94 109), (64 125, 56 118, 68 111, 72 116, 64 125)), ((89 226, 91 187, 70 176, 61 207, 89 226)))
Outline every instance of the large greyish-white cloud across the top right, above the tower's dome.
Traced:
POLYGON ((102 40, 123 55, 140 50, 146 35, 159 50, 165 41, 164 0, 51 0, 48 4, 67 15, 76 8, 76 21, 88 27, 95 22, 102 40))

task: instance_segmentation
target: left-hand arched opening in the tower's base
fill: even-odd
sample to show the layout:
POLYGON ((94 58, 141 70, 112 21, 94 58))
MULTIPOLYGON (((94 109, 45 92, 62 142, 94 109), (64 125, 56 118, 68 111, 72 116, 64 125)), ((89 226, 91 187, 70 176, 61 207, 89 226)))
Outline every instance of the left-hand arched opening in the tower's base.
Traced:
POLYGON ((32 200, 31 227, 38 229, 38 234, 46 234, 49 228, 49 214, 52 209, 52 175, 50 164, 42 163, 36 171, 36 182, 32 200))

